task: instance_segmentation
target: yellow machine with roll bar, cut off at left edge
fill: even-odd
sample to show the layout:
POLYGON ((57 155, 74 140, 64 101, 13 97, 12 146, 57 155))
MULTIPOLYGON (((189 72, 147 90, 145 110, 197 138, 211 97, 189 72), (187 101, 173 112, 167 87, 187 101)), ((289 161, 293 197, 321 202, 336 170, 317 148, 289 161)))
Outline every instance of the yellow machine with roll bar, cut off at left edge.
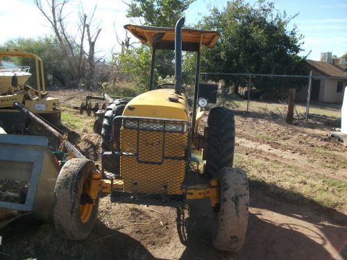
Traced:
POLYGON ((61 110, 58 98, 49 96, 44 85, 44 71, 42 59, 33 53, 12 50, 0 51, 0 127, 6 132, 42 135, 44 129, 35 121, 27 121, 26 117, 13 108, 13 102, 24 104, 29 110, 35 112, 53 125, 60 124, 61 110), (25 85, 31 76, 29 67, 19 67, 8 58, 30 58, 35 60, 36 89, 25 85), (7 66, 6 66, 7 65, 7 66))

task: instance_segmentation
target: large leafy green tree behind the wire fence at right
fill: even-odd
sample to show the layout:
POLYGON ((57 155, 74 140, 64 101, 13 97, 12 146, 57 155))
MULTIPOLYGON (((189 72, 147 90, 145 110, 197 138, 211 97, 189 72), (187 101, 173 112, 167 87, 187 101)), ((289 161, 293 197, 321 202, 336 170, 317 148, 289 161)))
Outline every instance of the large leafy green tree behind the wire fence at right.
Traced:
MULTIPOLYGON (((303 35, 294 19, 279 13, 272 2, 257 1, 253 6, 243 0, 228 1, 222 10, 213 8, 196 27, 221 34, 217 46, 201 54, 201 71, 223 73, 299 74, 303 71, 303 35)), ((218 80, 217 76, 213 77, 218 80)), ((224 78, 227 83, 246 85, 246 77, 224 78)), ((276 89, 276 84, 291 85, 290 79, 255 78, 260 89, 276 89)))

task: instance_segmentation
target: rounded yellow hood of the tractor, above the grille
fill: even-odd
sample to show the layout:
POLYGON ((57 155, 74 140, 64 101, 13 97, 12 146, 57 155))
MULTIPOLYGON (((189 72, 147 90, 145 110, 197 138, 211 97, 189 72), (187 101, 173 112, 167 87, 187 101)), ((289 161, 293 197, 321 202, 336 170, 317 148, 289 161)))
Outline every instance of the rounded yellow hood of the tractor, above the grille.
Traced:
POLYGON ((126 105, 123 115, 189 121, 187 98, 175 94, 175 89, 156 89, 136 96, 126 105))

